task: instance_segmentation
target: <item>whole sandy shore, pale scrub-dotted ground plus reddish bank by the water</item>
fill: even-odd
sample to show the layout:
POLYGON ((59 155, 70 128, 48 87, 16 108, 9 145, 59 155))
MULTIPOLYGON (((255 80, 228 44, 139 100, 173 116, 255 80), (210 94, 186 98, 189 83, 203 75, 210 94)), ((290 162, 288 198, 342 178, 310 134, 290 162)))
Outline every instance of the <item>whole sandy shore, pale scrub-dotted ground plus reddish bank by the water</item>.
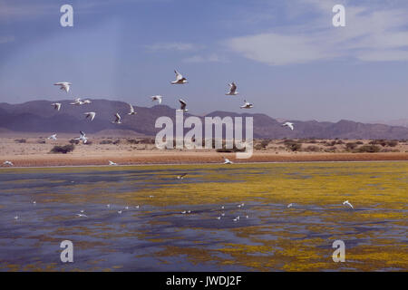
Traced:
POLYGON ((235 153, 221 153, 213 149, 202 150, 158 150, 151 140, 128 138, 93 137, 91 144, 75 145, 72 152, 53 154, 55 145, 69 144, 70 134, 58 135, 58 140, 47 140, 48 133, 21 136, 0 135, 0 166, 10 160, 15 167, 51 167, 108 165, 112 160, 120 165, 138 164, 199 164, 222 163, 222 156, 235 163, 252 162, 309 162, 309 161, 382 161, 408 160, 408 142, 400 141, 393 147, 380 146, 377 153, 351 153, 346 143, 359 142, 359 146, 370 144, 370 140, 302 140, 301 150, 292 151, 285 140, 256 140, 250 159, 237 160, 235 153), (314 149, 311 151, 310 149, 314 149), (394 150, 394 151, 391 151, 394 150))

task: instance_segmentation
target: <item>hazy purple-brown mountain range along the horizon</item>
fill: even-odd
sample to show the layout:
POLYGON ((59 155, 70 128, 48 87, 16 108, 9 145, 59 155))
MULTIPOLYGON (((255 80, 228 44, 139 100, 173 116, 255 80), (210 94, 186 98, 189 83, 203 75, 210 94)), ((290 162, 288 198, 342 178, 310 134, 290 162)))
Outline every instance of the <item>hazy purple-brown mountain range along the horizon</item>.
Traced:
MULTIPOLYGON (((24 132, 73 132, 85 131, 97 133, 100 131, 114 132, 134 131, 135 134, 154 136, 160 129, 154 128, 155 121, 160 116, 168 116, 175 120, 176 110, 167 105, 156 105, 151 108, 134 106, 136 115, 129 116, 129 105, 126 102, 92 100, 91 104, 73 106, 72 101, 60 101, 61 111, 56 111, 50 101, 33 101, 21 104, 0 103, 0 129, 24 132), (85 120, 86 111, 96 111, 93 121, 85 120), (119 111, 122 124, 112 124, 113 114, 119 111)), ((187 118, 189 114, 185 114, 187 118)), ((213 111, 206 116, 221 118, 253 117, 255 138, 319 138, 319 139, 408 139, 408 128, 385 124, 368 124, 355 121, 296 121, 295 130, 281 126, 277 121, 266 114, 235 113, 228 111, 213 111)), ((203 119, 202 116, 199 117, 203 119)), ((1 133, 2 130, 0 130, 1 133)), ((204 132, 204 129, 203 129, 204 132)))

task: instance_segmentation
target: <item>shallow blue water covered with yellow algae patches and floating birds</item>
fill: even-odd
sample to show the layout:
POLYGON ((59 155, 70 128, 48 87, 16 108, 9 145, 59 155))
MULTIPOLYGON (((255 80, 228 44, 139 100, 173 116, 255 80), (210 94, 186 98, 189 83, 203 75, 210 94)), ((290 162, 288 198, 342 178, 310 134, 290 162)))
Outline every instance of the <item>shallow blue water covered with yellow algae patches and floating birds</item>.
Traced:
POLYGON ((2 169, 0 270, 406 271, 407 172, 407 162, 2 169), (336 239, 345 263, 333 262, 336 239), (63 240, 73 263, 60 260, 63 240))

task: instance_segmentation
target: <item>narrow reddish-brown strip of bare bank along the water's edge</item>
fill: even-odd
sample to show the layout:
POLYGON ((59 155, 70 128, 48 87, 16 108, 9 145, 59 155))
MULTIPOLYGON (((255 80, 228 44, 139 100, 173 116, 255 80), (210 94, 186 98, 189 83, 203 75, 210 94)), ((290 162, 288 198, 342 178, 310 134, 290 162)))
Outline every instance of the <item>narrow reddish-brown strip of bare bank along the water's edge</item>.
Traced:
POLYGON ((105 154, 33 154, 15 155, 11 160, 15 167, 48 167, 48 166, 83 166, 107 165, 113 160, 120 165, 131 164, 192 164, 222 163, 222 156, 235 163, 248 162, 309 162, 309 161, 382 161, 408 160, 408 153, 271 153, 254 152, 247 160, 236 160, 233 153, 189 152, 189 151, 143 151, 143 152, 109 152, 105 154))

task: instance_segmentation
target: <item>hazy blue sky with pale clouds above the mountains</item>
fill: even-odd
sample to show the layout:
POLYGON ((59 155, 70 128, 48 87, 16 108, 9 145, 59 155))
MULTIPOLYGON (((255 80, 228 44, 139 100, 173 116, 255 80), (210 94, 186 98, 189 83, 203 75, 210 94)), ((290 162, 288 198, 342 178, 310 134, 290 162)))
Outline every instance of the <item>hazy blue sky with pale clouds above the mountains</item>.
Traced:
POLYGON ((407 81, 406 0, 0 0, 0 102, 160 94, 199 115, 247 100, 273 118, 390 121, 408 118, 407 81))

